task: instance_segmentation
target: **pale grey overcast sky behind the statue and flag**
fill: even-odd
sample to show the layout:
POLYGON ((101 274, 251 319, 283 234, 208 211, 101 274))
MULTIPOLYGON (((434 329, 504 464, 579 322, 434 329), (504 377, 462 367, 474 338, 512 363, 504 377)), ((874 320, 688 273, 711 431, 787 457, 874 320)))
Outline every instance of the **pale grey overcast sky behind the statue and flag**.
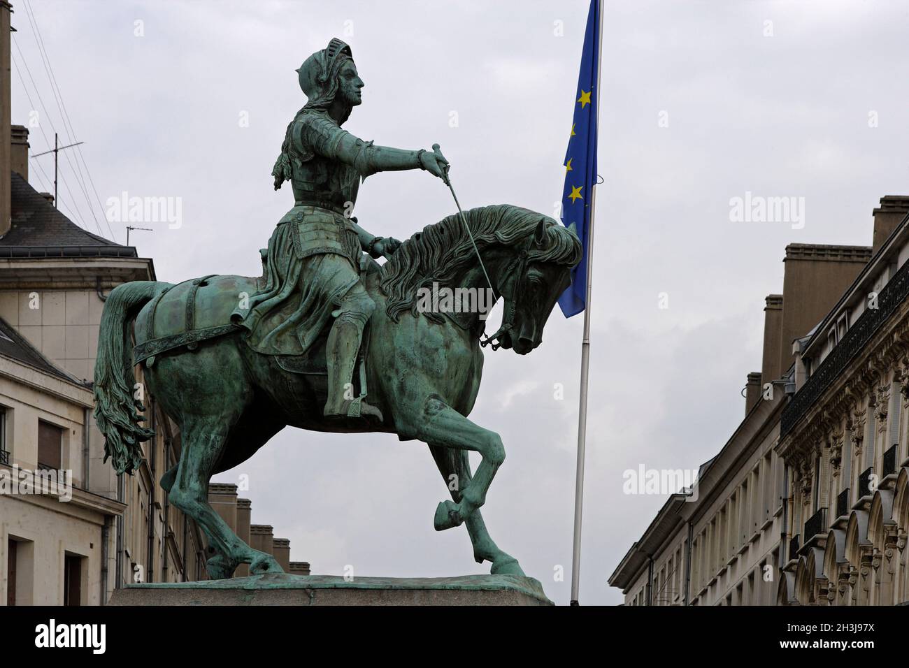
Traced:
MULTIPOLYGON (((61 204, 110 236, 98 200, 180 198, 179 228, 132 236, 159 280, 259 274, 258 249, 293 204, 270 173, 305 102, 294 70, 333 36, 366 84, 346 129, 439 143, 465 207, 553 214, 562 194, 587 0, 28 2, 94 182, 90 209, 61 159, 61 204)), ((39 153, 42 130, 72 139, 24 0, 14 9, 32 101, 14 67, 13 122, 38 112, 39 153)), ((906 29, 898 2, 606 3, 582 603, 621 601, 606 580, 665 500, 623 494, 623 472, 696 468, 744 416, 785 244, 870 244, 878 199, 909 192, 906 29), (733 222, 730 199, 749 192, 804 197, 804 225, 733 222)), ((45 190, 39 161, 48 175, 53 162, 31 161, 45 190)), ((441 182, 410 172, 370 178, 355 213, 404 239, 453 212, 441 182)), ((111 228, 124 243, 125 224, 111 228)), ((571 580, 582 319, 556 309, 533 354, 487 352, 471 415, 508 454, 484 506, 490 533, 556 603, 571 580)), ((488 573, 464 528, 433 530, 447 491, 418 442, 288 428, 217 480, 241 474, 253 521, 314 573, 488 573)))

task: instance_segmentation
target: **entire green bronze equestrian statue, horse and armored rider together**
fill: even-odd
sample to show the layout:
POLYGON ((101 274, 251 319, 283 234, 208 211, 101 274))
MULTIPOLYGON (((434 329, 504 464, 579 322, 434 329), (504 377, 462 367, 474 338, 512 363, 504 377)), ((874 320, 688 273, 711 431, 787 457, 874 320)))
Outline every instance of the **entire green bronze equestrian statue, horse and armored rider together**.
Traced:
POLYGON ((332 40, 298 73, 308 102, 273 172, 275 188, 291 182, 295 205, 262 251, 263 275, 135 282, 108 297, 95 363, 105 454, 118 474, 132 474, 153 435, 134 395, 134 365, 142 364, 148 392, 180 426, 180 462, 161 484, 205 531, 214 552, 208 572, 220 579, 240 563, 254 574, 281 571, 230 530, 207 490, 212 475, 245 462, 285 425, 423 441, 453 499, 439 503, 435 528, 464 523, 478 563, 523 575, 479 510, 504 446, 467 419, 491 305, 482 299, 485 274, 494 299, 504 299, 504 318, 483 344, 530 353, 581 258, 577 236, 508 204, 451 215, 404 243, 366 233, 350 216, 366 176, 422 168, 446 181, 448 163, 437 147, 376 146, 341 129, 363 87, 343 42, 332 40), (374 258, 382 255, 380 266, 374 258), (471 450, 482 456, 475 474, 471 450))

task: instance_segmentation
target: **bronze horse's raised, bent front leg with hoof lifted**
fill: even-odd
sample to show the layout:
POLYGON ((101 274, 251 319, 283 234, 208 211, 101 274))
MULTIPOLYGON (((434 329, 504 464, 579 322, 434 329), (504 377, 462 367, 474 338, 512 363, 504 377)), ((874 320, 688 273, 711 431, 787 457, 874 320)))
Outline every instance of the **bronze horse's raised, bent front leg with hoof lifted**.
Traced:
POLYGON ((442 531, 464 523, 486 502, 489 485, 504 462, 505 449, 499 434, 472 423, 437 394, 426 399, 422 418, 416 427, 421 441, 457 450, 475 450, 483 457, 473 480, 461 494, 461 501, 443 501, 436 508, 435 530, 442 531))

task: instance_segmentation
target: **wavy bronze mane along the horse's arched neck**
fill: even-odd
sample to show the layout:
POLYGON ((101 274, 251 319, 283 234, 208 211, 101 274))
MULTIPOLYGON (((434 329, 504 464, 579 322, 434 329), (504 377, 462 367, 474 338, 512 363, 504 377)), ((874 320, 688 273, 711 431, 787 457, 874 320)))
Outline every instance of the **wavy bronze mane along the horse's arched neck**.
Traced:
MULTIPOLYGON (((546 221, 549 243, 532 245, 528 260, 572 266, 580 262, 582 251, 577 236, 552 218, 511 204, 478 206, 464 212, 481 254, 491 244, 522 243, 534 234, 541 217, 546 221)), ((419 288, 431 287, 434 282, 450 284, 465 264, 473 262, 476 262, 474 246, 458 214, 426 225, 423 232, 401 244, 382 267, 379 284, 388 297, 388 316, 397 322, 403 311, 416 314, 419 288)))

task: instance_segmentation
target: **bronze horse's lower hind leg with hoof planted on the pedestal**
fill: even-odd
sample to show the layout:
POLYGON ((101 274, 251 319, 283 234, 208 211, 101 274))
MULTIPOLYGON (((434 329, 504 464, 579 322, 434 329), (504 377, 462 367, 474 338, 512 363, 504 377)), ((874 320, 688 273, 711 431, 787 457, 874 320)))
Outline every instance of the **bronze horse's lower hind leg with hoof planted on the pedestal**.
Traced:
POLYGON ((182 430, 183 452, 170 490, 170 502, 202 527, 215 548, 207 563, 209 576, 231 577, 240 563, 253 574, 282 573, 275 558, 244 543, 208 504, 208 482, 221 459, 229 427, 225 416, 188 417, 182 430))

